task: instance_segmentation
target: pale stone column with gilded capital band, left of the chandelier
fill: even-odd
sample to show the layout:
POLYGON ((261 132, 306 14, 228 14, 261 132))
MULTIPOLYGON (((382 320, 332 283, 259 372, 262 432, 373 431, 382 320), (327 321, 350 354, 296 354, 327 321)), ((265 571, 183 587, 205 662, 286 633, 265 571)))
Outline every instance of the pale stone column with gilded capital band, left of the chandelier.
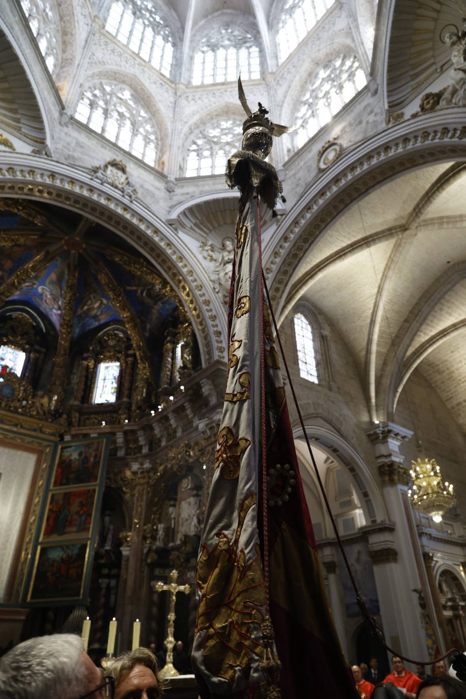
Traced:
POLYGON ((403 466, 404 456, 400 454, 400 445, 412 436, 412 431, 384 422, 367 434, 374 445, 388 518, 393 523, 391 532, 387 529, 371 535, 368 528, 386 640, 404 655, 427 658, 425 630, 414 589, 421 589, 429 611, 432 600, 407 494, 409 470, 403 466))

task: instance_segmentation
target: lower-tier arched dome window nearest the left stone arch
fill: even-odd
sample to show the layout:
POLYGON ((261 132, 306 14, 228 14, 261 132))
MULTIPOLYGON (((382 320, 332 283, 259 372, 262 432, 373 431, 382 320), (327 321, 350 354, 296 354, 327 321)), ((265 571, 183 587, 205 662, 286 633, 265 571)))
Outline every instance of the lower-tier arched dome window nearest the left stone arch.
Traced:
POLYGON ((88 87, 80 96, 75 117, 148 165, 155 164, 154 122, 128 87, 110 82, 88 87))

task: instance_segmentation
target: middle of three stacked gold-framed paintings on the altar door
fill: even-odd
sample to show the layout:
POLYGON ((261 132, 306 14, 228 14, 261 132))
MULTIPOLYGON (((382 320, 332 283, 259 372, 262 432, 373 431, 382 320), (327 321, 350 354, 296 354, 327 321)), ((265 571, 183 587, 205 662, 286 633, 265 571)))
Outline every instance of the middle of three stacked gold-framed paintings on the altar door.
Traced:
POLYGON ((41 540, 89 537, 96 492, 95 487, 50 491, 41 540))

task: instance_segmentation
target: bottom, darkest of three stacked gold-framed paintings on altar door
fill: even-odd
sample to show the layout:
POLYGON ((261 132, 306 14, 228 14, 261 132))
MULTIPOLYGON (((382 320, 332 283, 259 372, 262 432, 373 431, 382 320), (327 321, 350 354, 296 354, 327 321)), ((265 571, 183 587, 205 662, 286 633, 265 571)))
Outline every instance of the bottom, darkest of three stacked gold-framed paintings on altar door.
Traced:
POLYGON ((39 546, 27 601, 80 600, 88 554, 89 542, 39 546))

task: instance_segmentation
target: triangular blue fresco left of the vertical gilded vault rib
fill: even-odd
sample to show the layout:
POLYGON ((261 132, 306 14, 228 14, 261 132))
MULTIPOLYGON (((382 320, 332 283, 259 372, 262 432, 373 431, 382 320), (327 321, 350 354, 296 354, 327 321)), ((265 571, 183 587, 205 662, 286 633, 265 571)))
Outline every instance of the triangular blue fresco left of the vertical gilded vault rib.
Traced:
POLYGON ((63 259, 58 258, 41 273, 28 279, 10 298, 35 305, 59 331, 65 282, 66 265, 63 259))

